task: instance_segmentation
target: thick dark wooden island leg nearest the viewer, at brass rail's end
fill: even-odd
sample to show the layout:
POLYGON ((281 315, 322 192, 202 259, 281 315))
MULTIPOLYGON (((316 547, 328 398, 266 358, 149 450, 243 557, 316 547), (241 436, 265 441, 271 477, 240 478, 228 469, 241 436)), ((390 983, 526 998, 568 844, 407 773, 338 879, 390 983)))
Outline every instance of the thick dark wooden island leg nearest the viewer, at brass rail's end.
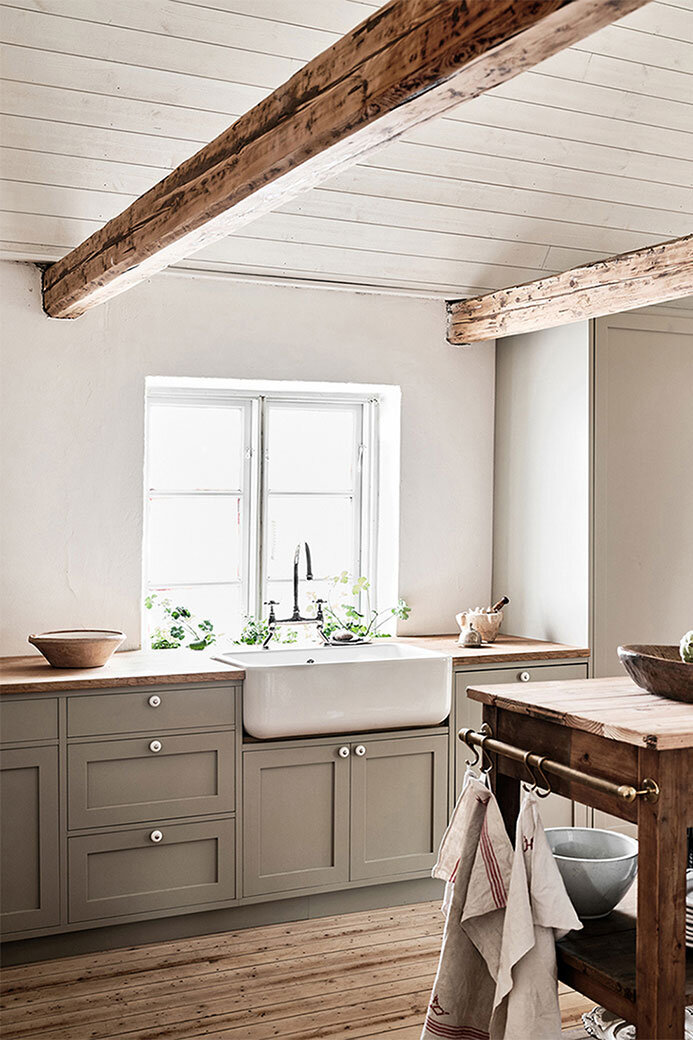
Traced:
POLYGON ((639 754, 639 776, 660 785, 638 802, 636 1035, 683 1040, 686 1006, 687 752, 639 754))

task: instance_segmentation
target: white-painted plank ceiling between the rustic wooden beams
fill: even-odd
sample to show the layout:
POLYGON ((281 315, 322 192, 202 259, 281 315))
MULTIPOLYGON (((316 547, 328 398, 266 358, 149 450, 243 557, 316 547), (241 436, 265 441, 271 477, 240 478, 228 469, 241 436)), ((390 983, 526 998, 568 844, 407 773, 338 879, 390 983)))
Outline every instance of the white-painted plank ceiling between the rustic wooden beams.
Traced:
MULTIPOLYGON (((54 260, 378 7, 2 0, 0 255, 54 260)), ((662 0, 186 267, 463 296, 693 232, 693 0, 662 0)))

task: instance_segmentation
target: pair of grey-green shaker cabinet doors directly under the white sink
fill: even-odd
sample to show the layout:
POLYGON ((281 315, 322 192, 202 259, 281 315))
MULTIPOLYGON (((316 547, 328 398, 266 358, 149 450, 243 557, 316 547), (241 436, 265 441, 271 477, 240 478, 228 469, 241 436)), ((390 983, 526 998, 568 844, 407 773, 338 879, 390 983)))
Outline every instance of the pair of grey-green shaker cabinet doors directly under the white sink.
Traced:
POLYGON ((447 813, 447 734, 243 755, 243 895, 431 869, 447 813))

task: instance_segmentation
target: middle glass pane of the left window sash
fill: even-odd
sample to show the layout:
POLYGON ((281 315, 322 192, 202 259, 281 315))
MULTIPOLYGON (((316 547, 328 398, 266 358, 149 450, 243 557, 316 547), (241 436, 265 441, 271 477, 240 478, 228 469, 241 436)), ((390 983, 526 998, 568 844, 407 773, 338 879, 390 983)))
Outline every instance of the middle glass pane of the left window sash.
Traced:
POLYGON ((237 580, 241 503, 225 495, 151 498, 148 581, 237 580))

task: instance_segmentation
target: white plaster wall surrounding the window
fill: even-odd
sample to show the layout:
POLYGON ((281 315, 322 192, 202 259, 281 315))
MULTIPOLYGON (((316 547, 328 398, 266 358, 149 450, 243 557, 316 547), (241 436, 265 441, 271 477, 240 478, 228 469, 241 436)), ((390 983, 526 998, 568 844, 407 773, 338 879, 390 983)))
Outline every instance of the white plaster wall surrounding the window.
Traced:
POLYGON ((10 262, 0 300, 0 653, 70 626, 138 645, 147 375, 401 386, 401 631, 488 600, 494 348, 447 346, 440 302, 162 275, 56 321, 10 262))

